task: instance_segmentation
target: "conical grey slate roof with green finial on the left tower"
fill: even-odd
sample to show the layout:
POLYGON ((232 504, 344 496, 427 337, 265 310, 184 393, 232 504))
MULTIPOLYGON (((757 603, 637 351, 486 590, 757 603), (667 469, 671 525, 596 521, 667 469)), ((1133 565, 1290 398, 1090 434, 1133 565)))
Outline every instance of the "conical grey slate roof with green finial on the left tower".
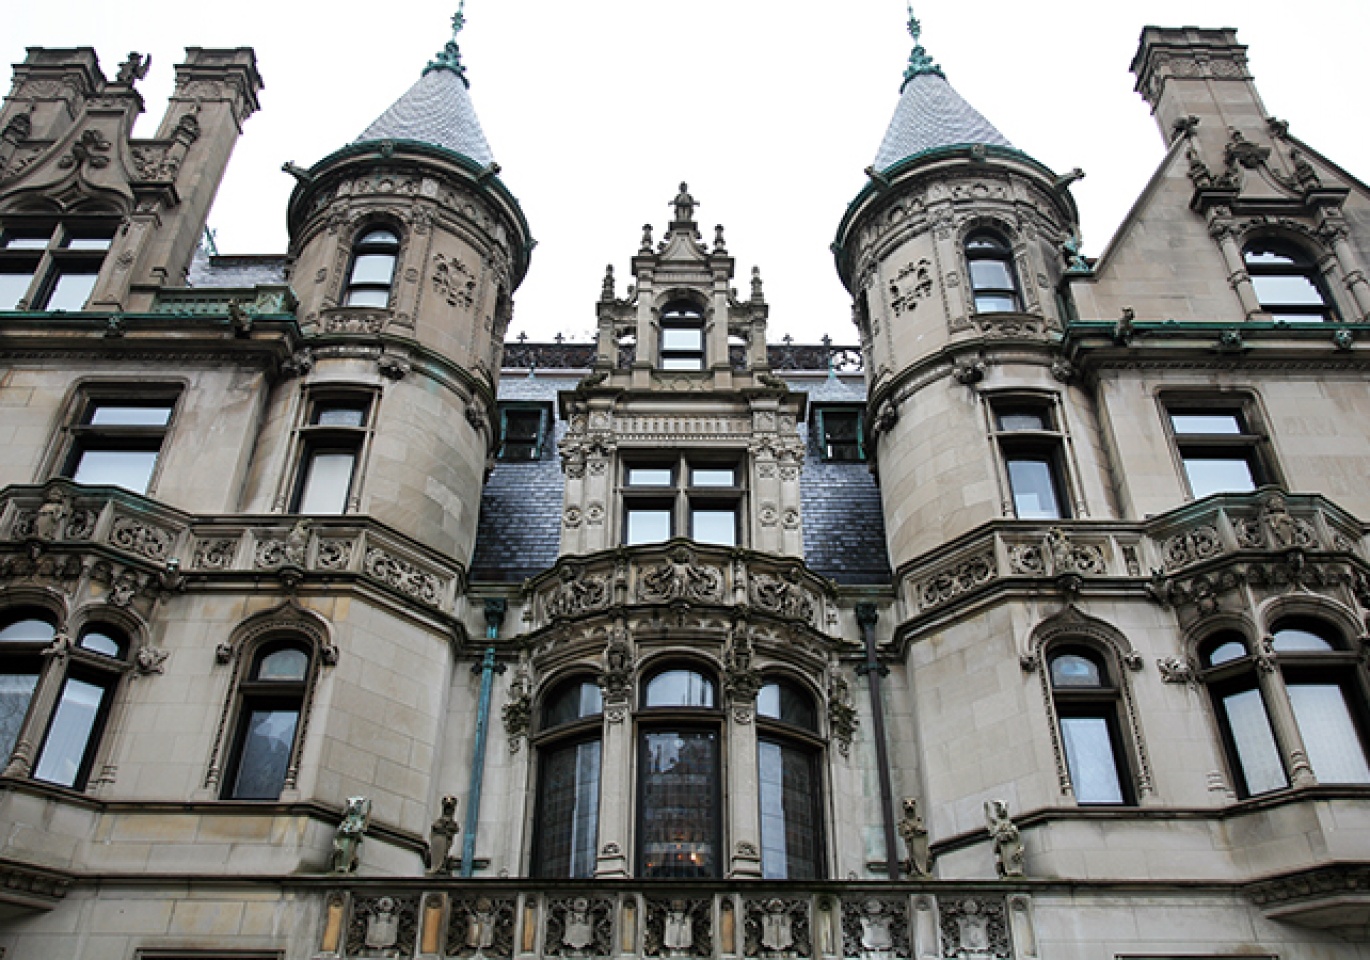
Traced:
POLYGON ((456 45, 456 36, 466 26, 464 7, 466 0, 462 0, 452 16, 452 38, 423 67, 423 75, 358 137, 358 142, 414 140, 460 153, 482 167, 490 164, 490 145, 471 105, 470 84, 456 45))

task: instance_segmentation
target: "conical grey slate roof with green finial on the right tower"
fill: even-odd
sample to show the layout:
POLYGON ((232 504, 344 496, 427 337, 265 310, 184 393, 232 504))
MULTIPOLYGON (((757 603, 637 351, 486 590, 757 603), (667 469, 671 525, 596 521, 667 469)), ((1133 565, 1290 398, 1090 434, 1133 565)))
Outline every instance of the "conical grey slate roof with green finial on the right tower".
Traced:
POLYGON ((895 118, 875 153, 875 171, 882 173, 900 160, 938 147, 989 144, 1011 148, 1012 144, 993 123, 951 88, 941 67, 923 49, 919 42, 922 25, 912 7, 908 10, 908 33, 914 38, 914 49, 908 55, 895 118))

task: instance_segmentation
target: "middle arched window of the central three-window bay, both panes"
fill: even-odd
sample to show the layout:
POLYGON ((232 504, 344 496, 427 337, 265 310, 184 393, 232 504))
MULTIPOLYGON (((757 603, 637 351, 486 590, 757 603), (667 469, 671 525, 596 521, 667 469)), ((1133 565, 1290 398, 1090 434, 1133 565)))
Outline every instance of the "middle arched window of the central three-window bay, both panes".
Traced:
POLYGON ((637 875, 721 875, 719 734, 712 679, 688 667, 643 689, 637 757, 637 875))

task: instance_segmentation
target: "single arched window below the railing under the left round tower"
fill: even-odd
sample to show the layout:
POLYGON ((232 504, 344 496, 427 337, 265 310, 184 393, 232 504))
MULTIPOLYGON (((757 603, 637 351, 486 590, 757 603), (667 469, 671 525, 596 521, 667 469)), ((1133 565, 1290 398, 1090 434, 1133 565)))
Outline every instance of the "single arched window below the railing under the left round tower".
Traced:
POLYGON ((277 800, 289 778, 310 677, 310 646, 275 640, 252 655, 238 683, 238 718, 225 800, 277 800))

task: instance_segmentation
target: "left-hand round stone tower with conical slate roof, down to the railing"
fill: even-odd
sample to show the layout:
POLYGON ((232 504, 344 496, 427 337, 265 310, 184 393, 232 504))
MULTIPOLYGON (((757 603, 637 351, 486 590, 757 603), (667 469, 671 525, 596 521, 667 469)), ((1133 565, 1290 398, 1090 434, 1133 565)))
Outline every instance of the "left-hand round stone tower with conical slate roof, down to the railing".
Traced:
POLYGON ((471 105, 463 22, 458 12, 452 40, 355 142, 310 170, 286 164, 308 349, 277 430, 288 466, 273 503, 364 512, 462 560, 533 247, 471 105))

